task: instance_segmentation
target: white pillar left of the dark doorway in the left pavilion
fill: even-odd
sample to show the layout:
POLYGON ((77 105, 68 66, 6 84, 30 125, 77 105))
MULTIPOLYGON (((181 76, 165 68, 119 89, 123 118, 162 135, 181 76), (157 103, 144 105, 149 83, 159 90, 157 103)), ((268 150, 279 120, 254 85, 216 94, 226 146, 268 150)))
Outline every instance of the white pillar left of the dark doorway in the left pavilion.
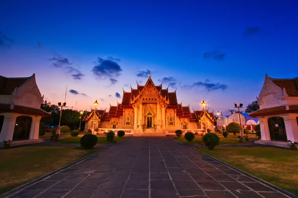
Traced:
POLYGON ((3 126, 0 133, 0 142, 4 140, 12 140, 17 115, 4 114, 3 126))

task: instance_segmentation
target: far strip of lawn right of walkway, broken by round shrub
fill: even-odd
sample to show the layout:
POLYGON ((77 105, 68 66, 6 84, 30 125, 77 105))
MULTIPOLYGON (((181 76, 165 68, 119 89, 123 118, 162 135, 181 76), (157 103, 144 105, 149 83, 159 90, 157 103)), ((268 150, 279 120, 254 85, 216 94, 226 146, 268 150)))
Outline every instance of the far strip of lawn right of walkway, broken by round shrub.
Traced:
MULTIPOLYGON (((226 138, 224 138, 224 136, 222 136, 221 134, 217 134, 221 140, 220 140, 220 145, 238 145, 238 144, 245 144, 245 140, 243 140, 242 143, 239 142, 238 140, 238 136, 234 136, 233 134, 229 134, 226 138)), ((249 137, 249 136, 248 136, 249 137)), ((254 136, 253 136, 254 137, 254 136)), ((177 140, 178 142, 180 143, 183 143, 183 144, 192 144, 192 145, 199 145, 202 143, 202 137, 201 136, 195 136, 195 139, 192 141, 192 142, 188 142, 184 136, 181 136, 180 138, 178 137, 175 137, 174 138, 175 140, 177 140)), ((255 137, 255 138, 252 138, 252 137, 249 137, 250 140, 257 140, 258 138, 255 137)))

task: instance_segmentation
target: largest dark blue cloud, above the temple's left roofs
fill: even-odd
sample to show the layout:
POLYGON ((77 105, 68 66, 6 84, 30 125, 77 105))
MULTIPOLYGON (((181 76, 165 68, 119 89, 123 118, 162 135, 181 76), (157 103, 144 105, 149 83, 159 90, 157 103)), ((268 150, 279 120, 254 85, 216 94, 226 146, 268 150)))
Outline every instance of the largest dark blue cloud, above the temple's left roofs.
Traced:
POLYGON ((116 61, 120 61, 120 59, 113 57, 103 59, 98 57, 97 62, 95 62, 96 65, 91 71, 96 78, 109 79, 113 85, 117 82, 115 78, 120 76, 120 72, 122 72, 120 65, 116 61))

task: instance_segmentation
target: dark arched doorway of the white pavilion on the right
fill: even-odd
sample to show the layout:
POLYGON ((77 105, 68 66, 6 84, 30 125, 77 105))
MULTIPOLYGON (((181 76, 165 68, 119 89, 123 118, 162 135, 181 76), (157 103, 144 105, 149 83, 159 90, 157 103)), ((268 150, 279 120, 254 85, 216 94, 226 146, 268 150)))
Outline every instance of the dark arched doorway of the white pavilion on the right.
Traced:
POLYGON ((284 118, 272 117, 268 119, 270 139, 275 141, 288 141, 284 118))

